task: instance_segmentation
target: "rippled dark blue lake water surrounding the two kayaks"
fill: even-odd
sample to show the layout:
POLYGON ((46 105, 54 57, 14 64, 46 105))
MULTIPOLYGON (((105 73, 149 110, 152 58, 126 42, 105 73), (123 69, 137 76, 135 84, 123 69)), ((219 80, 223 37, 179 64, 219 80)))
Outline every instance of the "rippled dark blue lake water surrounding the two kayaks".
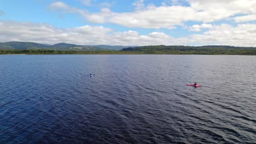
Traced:
POLYGON ((255 56, 0 56, 0 143, 255 142, 255 56))

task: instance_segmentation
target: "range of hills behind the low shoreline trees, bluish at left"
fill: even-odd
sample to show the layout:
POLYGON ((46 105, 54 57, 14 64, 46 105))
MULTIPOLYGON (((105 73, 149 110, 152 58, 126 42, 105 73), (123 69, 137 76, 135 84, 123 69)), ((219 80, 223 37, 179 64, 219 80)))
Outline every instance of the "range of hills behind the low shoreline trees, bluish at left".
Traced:
POLYGON ((121 46, 121 45, 75 45, 67 43, 58 43, 54 45, 38 44, 31 42, 10 41, 0 43, 0 50, 55 50, 55 51, 115 51, 138 52, 138 53, 174 53, 174 54, 228 54, 245 52, 254 53, 256 47, 238 47, 225 45, 207 45, 207 46, 121 46), (240 51, 243 50, 243 51, 240 51))

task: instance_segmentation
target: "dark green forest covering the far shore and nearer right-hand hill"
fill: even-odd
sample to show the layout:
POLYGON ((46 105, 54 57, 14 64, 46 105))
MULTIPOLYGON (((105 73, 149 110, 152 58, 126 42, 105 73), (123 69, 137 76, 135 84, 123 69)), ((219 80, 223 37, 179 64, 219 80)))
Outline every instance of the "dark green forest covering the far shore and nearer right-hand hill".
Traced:
MULTIPOLYGON (((64 43, 59 44, 65 48, 64 43)), ((1 49, 1 55, 27 54, 27 55, 50 55, 50 54, 175 54, 175 55, 256 55, 256 47, 234 46, 140 46, 128 47, 117 50, 66 50, 66 49, 1 49)))

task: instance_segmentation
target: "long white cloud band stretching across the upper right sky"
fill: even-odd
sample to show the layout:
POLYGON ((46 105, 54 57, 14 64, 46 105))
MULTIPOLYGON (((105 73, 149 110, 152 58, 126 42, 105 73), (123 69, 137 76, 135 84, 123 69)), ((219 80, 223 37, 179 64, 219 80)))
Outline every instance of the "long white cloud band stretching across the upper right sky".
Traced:
POLYGON ((135 11, 115 13, 109 10, 107 15, 102 11, 86 13, 84 10, 70 7, 62 2, 55 2, 50 7, 62 9, 65 12, 79 13, 89 22, 109 22, 130 28, 174 28, 175 26, 183 26, 184 22, 187 21, 209 23, 227 19, 237 14, 245 15, 245 17, 234 19, 236 22, 242 22, 254 20, 254 15, 256 15, 256 1, 254 0, 191 0, 187 1, 189 6, 179 5, 181 1, 177 0, 166 0, 164 2, 165 4, 156 7, 153 4, 146 6, 143 0, 136 0, 132 3, 135 6, 135 11), (168 6, 167 2, 174 5, 168 6))

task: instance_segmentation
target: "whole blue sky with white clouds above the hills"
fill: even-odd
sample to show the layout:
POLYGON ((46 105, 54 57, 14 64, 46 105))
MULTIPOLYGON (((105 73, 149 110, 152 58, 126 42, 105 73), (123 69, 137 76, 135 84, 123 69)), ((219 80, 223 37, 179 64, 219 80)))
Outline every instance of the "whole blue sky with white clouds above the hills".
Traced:
POLYGON ((0 0, 0 42, 256 46, 256 0, 0 0))

